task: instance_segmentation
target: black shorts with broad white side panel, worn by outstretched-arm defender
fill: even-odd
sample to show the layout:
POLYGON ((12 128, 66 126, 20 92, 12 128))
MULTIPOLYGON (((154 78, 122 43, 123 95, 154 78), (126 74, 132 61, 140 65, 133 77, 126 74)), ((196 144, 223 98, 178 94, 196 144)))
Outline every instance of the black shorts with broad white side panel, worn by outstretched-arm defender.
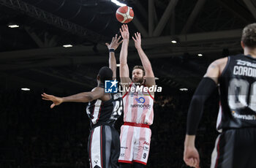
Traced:
POLYGON ((102 125, 91 129, 88 142, 90 168, 118 167, 120 140, 113 126, 102 125))

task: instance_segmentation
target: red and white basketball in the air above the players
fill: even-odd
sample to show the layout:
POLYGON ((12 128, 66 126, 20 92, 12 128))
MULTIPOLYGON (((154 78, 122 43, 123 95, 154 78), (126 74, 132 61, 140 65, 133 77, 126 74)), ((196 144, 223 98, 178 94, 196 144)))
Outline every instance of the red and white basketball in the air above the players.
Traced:
POLYGON ((134 16, 132 7, 119 7, 116 10, 116 19, 121 22, 121 23, 129 23, 130 21, 132 21, 134 16))

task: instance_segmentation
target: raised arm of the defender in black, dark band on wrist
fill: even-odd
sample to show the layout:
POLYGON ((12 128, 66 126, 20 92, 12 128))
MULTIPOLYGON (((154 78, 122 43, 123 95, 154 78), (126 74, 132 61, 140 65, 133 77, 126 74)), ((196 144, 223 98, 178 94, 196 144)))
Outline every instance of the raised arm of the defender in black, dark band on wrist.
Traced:
POLYGON ((115 50, 118 48, 118 46, 121 44, 121 42, 123 42, 123 40, 121 40, 120 42, 119 39, 121 38, 121 36, 119 36, 117 38, 117 34, 115 37, 112 38, 112 41, 110 44, 105 43, 105 45, 107 45, 108 50, 109 50, 109 67, 110 69, 113 71, 113 79, 116 79, 116 56, 115 56, 115 50))

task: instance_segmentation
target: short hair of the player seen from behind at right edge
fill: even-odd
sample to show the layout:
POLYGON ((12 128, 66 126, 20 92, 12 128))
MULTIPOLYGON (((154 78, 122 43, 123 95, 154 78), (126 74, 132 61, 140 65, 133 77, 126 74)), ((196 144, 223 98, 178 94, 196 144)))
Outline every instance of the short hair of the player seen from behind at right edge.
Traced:
POLYGON ((256 23, 244 27, 241 40, 246 47, 256 47, 256 23))

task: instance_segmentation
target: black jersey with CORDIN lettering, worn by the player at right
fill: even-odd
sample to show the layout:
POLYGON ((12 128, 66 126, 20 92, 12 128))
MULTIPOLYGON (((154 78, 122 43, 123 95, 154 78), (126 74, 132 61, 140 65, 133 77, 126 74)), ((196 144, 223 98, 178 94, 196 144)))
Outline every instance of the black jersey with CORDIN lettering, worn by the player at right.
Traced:
POLYGON ((256 127, 256 59, 229 56, 219 77, 217 129, 256 127))

